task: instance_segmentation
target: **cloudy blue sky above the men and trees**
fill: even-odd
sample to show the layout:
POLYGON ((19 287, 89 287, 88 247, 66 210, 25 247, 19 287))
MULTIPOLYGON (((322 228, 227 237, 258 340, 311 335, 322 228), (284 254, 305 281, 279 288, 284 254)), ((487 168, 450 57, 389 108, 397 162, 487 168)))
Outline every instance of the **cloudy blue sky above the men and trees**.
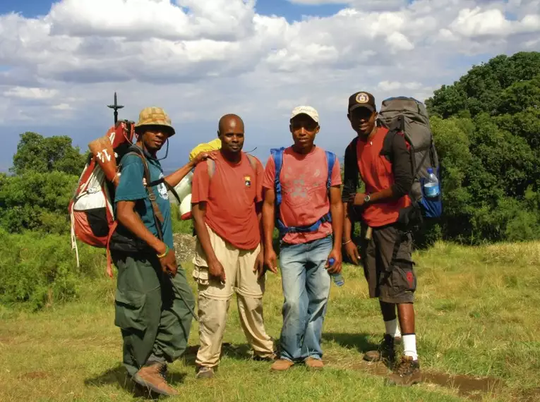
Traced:
POLYGON ((150 105, 170 114, 179 133, 170 167, 231 112, 264 162, 270 147, 289 145, 300 104, 319 111, 318 145, 341 155, 354 134, 345 116, 353 92, 379 104, 424 100, 473 64, 540 49, 536 0, 181 4, 191 15, 167 0, 58 0, 52 13, 49 1, 0 0, 0 171, 26 130, 69 135, 85 150, 112 123, 114 91, 121 117, 136 120, 150 105))

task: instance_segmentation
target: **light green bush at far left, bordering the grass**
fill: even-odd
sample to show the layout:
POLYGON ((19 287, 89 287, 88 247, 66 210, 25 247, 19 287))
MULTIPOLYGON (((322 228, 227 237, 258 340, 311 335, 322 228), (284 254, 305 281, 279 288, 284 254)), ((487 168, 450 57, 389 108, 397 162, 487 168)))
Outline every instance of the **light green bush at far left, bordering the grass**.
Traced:
POLYGON ((0 302, 32 310, 73 300, 84 281, 103 275, 104 250, 79 245, 80 267, 69 236, 0 229, 0 302))

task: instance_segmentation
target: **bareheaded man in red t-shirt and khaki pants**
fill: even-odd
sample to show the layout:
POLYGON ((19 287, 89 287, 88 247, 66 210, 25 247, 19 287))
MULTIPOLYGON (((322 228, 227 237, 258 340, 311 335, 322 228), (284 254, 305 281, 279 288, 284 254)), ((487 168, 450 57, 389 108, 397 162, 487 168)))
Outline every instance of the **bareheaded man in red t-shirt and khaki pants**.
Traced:
POLYGON ((213 161, 197 165, 191 192, 197 233, 193 257, 200 337, 197 378, 213 377, 220 362, 234 292, 241 326, 256 358, 275 358, 274 344, 263 323, 263 166, 256 157, 242 152, 244 122, 239 116, 223 116, 217 134, 222 147, 213 161))

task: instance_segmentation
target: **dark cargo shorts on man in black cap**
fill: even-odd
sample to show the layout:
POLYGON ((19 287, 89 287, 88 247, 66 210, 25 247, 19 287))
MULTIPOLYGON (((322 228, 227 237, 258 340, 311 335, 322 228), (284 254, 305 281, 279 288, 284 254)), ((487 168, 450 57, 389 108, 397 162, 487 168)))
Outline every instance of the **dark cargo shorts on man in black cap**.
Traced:
POLYGON ((368 281, 369 297, 386 303, 414 303, 416 274, 412 261, 412 235, 397 224, 373 228, 366 239, 361 230, 361 259, 368 281))

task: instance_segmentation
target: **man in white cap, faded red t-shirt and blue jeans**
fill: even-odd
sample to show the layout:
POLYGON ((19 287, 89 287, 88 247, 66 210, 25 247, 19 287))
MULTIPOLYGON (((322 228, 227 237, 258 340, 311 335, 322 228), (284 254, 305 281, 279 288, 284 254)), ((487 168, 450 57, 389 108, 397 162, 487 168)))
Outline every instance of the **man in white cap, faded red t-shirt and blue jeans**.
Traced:
POLYGON ((272 370, 287 370, 303 361, 313 369, 323 368, 320 339, 323 330, 330 275, 341 272, 340 164, 335 160, 327 188, 329 165, 325 150, 313 144, 320 130, 318 113, 311 106, 292 111, 290 130, 294 145, 282 153, 279 182, 275 187, 274 158, 266 164, 263 187, 265 202, 265 264, 276 272, 277 256, 272 248, 275 217, 279 217, 280 266, 284 294, 280 359, 272 370), (281 205, 276 208, 276 196, 281 205), (276 210, 279 209, 279 210, 276 210), (322 219, 321 219, 322 218, 322 219), (332 238, 333 233, 333 238, 332 238), (329 264, 330 259, 335 262, 329 264))

